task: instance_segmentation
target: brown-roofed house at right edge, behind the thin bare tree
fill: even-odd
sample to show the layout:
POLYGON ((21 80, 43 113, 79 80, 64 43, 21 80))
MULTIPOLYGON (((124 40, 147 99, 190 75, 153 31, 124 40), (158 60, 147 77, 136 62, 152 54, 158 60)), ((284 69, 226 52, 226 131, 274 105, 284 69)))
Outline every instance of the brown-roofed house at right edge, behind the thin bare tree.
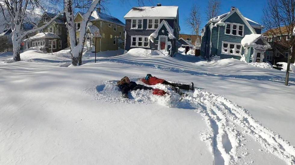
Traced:
MULTIPOLYGON (((263 35, 272 45, 272 49, 266 51, 266 60, 272 64, 277 62, 287 62, 289 55, 288 42, 292 35, 292 27, 283 26, 267 30, 263 35)), ((294 63, 295 57, 292 57, 291 63, 294 63)))

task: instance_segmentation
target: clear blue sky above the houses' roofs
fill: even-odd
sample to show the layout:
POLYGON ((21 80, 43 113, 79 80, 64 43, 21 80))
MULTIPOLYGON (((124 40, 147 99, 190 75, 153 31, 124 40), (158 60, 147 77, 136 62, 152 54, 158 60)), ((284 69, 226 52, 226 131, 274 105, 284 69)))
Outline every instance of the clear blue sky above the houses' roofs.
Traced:
MULTIPOLYGON (((107 4, 107 13, 117 17, 125 23, 124 15, 134 6, 138 6, 136 0, 125 0, 125 3, 121 3, 120 0, 110 0, 107 4)), ((153 6, 157 3, 161 3, 165 6, 179 6, 179 24, 180 33, 191 34, 191 29, 186 25, 185 18, 188 16, 191 4, 197 4, 200 7, 202 24, 205 26, 206 22, 206 6, 207 0, 152 0, 154 4, 149 3, 146 0, 146 6, 153 6)), ((227 13, 231 6, 237 7, 244 17, 247 17, 253 21, 261 23, 262 9, 266 5, 266 0, 221 0, 220 14, 227 13)))

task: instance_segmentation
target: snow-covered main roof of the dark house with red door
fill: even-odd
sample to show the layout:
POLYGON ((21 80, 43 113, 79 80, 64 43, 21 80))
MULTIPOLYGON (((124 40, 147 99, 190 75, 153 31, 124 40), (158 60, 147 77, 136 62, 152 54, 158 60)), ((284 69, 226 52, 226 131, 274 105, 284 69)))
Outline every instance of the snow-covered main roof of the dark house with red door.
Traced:
POLYGON ((132 8, 124 18, 132 17, 172 17, 176 18, 178 6, 145 6, 132 8))

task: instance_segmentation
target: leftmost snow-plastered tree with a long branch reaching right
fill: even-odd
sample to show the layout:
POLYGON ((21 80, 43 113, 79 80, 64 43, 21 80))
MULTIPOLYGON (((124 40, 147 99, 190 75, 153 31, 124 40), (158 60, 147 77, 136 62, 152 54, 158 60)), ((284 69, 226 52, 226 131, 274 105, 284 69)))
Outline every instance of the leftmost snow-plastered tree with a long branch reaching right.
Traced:
MULTIPOLYGON (((28 8, 34 10, 34 8, 38 8, 40 2, 40 0, 0 0, 0 6, 2 8, 2 11, 7 10, 9 13, 10 26, 12 30, 11 39, 13 45, 14 61, 20 61, 20 44, 22 42, 23 37, 29 33, 33 33, 45 28, 61 14, 57 14, 54 18, 48 21, 48 23, 44 24, 41 27, 21 32, 21 26, 24 22, 24 19, 30 12, 28 8)), ((6 17, 4 12, 2 12, 2 14, 3 17, 6 17)))

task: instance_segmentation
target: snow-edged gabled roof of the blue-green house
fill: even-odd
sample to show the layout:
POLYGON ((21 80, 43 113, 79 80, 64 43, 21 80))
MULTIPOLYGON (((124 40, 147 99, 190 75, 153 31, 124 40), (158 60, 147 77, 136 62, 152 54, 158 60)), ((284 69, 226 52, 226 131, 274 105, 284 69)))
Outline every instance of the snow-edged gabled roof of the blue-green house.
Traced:
POLYGON ((230 17, 235 12, 241 17, 241 19, 248 26, 250 31, 252 31, 252 33, 256 34, 256 31, 253 28, 257 28, 257 29, 262 29, 263 28, 263 26, 260 25, 259 23, 255 22, 253 20, 250 20, 249 18, 244 17, 241 14, 241 12, 239 11, 238 8, 234 8, 234 10, 232 10, 232 11, 230 11, 228 13, 219 15, 219 16, 214 17, 214 18, 211 18, 209 22, 216 23, 216 24, 222 24, 228 17, 230 17))

